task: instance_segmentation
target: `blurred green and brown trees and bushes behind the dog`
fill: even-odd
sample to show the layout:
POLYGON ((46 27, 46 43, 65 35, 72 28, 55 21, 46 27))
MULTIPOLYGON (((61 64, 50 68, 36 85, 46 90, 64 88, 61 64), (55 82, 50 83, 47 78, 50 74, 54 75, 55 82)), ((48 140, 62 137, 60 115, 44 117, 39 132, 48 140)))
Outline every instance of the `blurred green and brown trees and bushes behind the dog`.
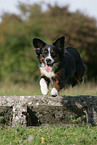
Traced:
POLYGON ((0 22, 0 80, 32 82, 39 79, 32 38, 47 43, 66 37, 66 46, 76 47, 88 66, 88 78, 97 74, 97 26, 94 18, 79 11, 71 13, 68 6, 18 4, 20 15, 3 13, 0 22))

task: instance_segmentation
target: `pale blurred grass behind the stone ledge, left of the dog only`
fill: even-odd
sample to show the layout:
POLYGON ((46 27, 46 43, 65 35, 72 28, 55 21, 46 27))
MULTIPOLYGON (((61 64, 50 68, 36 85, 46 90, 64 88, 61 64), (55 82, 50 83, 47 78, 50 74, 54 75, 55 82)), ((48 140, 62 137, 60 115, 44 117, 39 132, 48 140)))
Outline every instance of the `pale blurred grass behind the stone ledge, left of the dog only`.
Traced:
POLYGON ((13 84, 13 83, 1 83, 0 84, 0 96, 32 96, 41 94, 39 85, 34 84, 13 84))

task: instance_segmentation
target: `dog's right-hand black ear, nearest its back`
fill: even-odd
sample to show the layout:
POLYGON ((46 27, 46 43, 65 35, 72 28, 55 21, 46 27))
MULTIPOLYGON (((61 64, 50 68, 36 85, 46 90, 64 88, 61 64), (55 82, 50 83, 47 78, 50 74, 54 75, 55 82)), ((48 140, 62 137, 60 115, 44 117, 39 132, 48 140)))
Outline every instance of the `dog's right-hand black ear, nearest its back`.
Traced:
POLYGON ((59 51, 63 51, 64 50, 64 43, 65 43, 65 37, 64 36, 61 36, 56 41, 54 41, 52 44, 54 46, 56 46, 56 48, 59 51))

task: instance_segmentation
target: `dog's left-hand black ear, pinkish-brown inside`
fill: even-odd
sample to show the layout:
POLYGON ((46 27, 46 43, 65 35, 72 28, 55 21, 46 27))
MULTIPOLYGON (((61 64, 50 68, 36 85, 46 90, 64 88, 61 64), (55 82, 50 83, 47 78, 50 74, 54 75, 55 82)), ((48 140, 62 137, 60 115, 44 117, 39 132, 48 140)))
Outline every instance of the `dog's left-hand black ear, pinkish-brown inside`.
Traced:
POLYGON ((33 46, 36 50, 42 49, 45 45, 46 43, 42 41, 41 39, 38 39, 38 38, 33 39, 33 46))

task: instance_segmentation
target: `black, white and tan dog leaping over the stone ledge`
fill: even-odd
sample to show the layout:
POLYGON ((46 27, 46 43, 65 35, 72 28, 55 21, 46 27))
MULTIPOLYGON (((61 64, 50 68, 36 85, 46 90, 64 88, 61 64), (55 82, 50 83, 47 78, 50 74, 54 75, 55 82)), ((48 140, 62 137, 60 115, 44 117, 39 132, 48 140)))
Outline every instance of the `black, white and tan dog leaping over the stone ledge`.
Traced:
POLYGON ((41 79, 40 88, 43 95, 48 94, 50 83, 55 82, 51 96, 68 85, 75 86, 83 81, 86 66, 79 52, 73 47, 64 47, 65 37, 61 36, 52 44, 46 44, 39 38, 33 39, 37 55, 41 79))

